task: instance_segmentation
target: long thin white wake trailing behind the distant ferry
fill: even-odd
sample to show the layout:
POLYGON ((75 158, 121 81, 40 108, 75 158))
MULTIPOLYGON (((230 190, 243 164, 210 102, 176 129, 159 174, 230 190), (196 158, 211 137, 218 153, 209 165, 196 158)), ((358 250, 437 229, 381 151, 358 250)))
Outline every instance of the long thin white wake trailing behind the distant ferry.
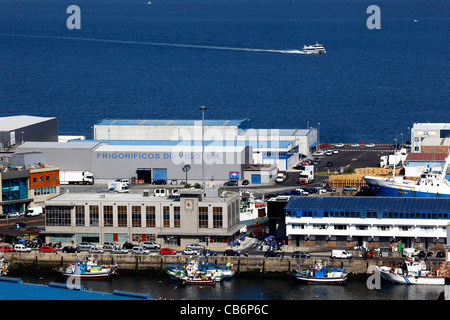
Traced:
POLYGON ((205 45, 182 44, 182 43, 146 42, 146 41, 129 41, 129 40, 80 38, 80 37, 63 37, 63 36, 42 36, 42 35, 26 35, 26 34, 13 34, 13 33, 3 33, 3 34, 0 34, 0 36, 20 37, 20 38, 35 38, 35 39, 37 38, 37 39, 53 39, 53 40, 71 40, 71 41, 91 41, 91 42, 114 43, 114 44, 136 44, 136 45, 148 45, 148 46, 194 48, 194 49, 209 49, 209 50, 229 50, 229 51, 247 51, 247 52, 271 52, 271 53, 284 53, 284 54, 303 54, 303 52, 301 50, 237 48, 237 47, 205 46, 205 45))

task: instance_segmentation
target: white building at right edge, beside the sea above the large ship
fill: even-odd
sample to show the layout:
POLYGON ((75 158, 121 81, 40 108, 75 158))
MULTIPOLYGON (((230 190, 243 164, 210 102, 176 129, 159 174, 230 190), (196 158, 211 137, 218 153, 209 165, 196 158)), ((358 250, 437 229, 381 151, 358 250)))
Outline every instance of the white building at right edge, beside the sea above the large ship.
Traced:
POLYGON ((450 123, 414 123, 411 152, 450 153, 450 123))

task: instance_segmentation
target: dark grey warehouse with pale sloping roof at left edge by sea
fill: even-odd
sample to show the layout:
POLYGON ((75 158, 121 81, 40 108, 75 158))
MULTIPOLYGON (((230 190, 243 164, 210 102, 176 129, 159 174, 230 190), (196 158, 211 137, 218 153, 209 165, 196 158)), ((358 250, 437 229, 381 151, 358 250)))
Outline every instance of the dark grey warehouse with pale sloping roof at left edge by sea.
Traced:
POLYGON ((58 141, 58 119, 54 117, 0 117, 0 150, 25 141, 58 141))

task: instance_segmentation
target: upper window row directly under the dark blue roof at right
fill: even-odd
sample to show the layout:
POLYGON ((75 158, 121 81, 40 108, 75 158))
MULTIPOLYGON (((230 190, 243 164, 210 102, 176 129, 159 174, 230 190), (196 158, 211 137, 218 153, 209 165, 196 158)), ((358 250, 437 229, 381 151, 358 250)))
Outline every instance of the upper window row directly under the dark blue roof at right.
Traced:
POLYGON ((312 218, 376 218, 376 219, 450 219, 450 212, 377 212, 377 211, 287 211, 288 217, 312 218))

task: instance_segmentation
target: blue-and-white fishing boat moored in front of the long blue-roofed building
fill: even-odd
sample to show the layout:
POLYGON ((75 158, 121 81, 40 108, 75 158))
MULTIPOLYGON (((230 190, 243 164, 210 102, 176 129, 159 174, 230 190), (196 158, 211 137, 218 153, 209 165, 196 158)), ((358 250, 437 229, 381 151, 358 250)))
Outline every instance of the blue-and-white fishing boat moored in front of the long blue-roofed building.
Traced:
POLYGON ((321 261, 307 270, 293 270, 289 274, 307 284, 344 284, 348 276, 345 269, 327 266, 321 261))

